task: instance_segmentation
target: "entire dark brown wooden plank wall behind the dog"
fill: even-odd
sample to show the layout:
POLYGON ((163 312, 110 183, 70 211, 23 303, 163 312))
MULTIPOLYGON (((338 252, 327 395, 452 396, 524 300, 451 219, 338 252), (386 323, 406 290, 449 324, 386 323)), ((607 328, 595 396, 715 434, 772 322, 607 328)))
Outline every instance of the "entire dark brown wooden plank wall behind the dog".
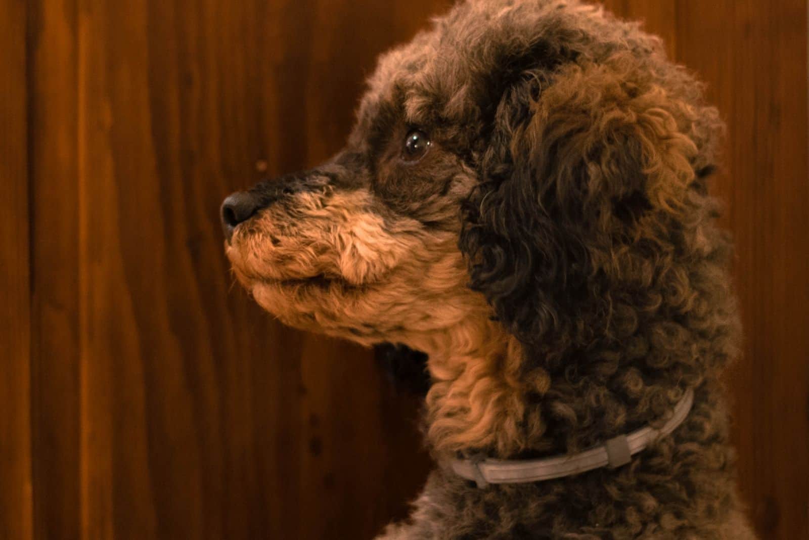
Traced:
MULTIPOLYGON (((404 515, 417 404, 253 306, 217 210, 337 150, 377 53, 445 6, 2 3, 0 538, 371 538, 404 515)), ((809 538, 806 2, 608 6, 727 120, 740 487, 762 538, 809 538)))

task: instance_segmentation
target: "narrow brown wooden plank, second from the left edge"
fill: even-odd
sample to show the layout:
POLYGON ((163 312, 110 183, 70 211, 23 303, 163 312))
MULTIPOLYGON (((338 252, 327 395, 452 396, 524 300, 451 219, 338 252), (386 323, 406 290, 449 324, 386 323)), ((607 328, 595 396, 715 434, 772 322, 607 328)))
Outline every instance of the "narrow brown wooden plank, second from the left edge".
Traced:
POLYGON ((36 538, 78 538, 78 171, 73 0, 30 2, 36 538))

